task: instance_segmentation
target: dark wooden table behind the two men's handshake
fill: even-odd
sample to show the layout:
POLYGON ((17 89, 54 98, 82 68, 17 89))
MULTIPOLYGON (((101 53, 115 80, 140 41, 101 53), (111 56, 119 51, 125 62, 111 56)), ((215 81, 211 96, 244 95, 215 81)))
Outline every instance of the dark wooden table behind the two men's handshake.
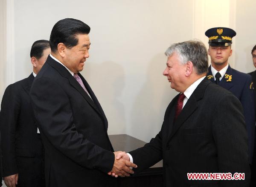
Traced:
MULTIPOLYGON (((109 139, 115 151, 131 150, 143 147, 146 142, 127 134, 109 135, 109 139)), ((136 163, 135 163, 136 164, 136 163)), ((161 187, 163 186, 163 160, 154 166, 131 177, 119 178, 120 187, 161 187)))

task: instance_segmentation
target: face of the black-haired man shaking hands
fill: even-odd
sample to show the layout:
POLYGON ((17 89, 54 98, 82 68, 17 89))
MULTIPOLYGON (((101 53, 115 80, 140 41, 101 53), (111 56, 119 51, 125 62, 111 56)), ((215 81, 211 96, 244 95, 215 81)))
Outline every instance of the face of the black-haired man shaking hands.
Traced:
POLYGON ((89 57, 90 39, 88 34, 76 35, 78 44, 65 50, 65 65, 74 74, 82 71, 84 62, 89 57))

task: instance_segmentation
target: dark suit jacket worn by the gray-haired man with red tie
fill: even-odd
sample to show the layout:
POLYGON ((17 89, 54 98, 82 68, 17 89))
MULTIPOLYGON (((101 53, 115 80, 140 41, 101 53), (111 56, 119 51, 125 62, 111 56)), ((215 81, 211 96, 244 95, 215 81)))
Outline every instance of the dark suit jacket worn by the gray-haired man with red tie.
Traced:
POLYGON ((239 100, 205 78, 174 123, 176 96, 160 132, 131 151, 135 171, 163 159, 166 187, 244 187, 250 180, 248 144, 239 100), (187 173, 245 173, 245 181, 188 180, 187 173))

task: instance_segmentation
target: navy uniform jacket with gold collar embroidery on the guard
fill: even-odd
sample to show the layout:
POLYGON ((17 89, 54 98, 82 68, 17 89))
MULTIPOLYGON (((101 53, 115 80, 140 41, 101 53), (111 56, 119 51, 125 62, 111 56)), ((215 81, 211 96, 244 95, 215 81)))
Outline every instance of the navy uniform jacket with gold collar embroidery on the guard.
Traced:
MULTIPOLYGON (((208 69, 209 73, 207 77, 214 82, 212 77, 211 66, 208 69)), ((244 74, 240 71, 228 66, 226 75, 218 85, 231 91, 242 103, 244 109, 245 124, 248 133, 249 141, 249 160, 250 163, 253 159, 254 148, 254 136, 255 136, 255 105, 254 105, 254 92, 252 88, 252 78, 248 74, 244 74), (229 77, 232 76, 230 79, 229 77), (229 80, 230 79, 230 80, 229 80)))

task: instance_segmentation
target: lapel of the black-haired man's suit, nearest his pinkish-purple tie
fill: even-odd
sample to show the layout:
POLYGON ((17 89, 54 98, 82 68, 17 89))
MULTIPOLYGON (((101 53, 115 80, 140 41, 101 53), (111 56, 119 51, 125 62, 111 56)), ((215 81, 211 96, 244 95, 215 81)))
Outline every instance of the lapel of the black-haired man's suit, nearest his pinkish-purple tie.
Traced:
MULTIPOLYGON (((102 113, 99 111, 99 109, 96 107, 90 96, 84 91, 84 89, 81 87, 81 85, 76 81, 74 77, 70 74, 67 69, 61 65, 59 62, 56 62, 52 57, 48 56, 46 63, 51 65, 53 68, 55 68, 59 74, 61 74, 62 77, 65 77, 69 80, 70 85, 72 85, 74 88, 76 88, 77 91, 86 99, 86 101, 99 113, 102 115, 102 113)), ((79 74, 80 76, 81 74, 79 74)), ((94 95, 94 94, 93 94, 94 95)))

